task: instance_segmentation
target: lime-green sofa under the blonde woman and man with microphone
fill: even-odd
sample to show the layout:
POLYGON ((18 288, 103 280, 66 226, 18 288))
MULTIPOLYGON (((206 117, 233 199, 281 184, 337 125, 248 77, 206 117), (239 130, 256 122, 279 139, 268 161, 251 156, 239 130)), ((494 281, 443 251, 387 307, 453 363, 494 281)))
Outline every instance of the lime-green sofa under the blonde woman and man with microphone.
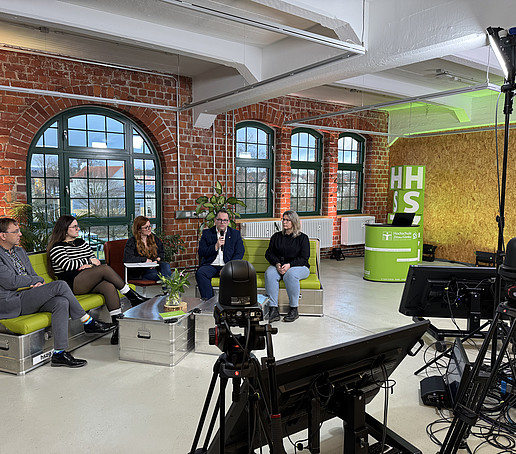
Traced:
MULTIPOLYGON (((256 284, 259 292, 265 290, 264 273, 270 265, 265 258, 265 251, 269 247, 267 238, 244 238, 245 254, 243 260, 251 263, 256 270, 256 284)), ((301 298, 299 300, 299 313, 301 315, 323 315, 323 287, 319 280, 319 240, 310 240, 310 275, 303 279, 301 284, 301 298)), ((219 287, 220 279, 214 277, 211 280, 213 288, 219 287)), ((280 293, 278 298, 279 311, 288 311, 288 296, 285 284, 280 281, 280 293)))

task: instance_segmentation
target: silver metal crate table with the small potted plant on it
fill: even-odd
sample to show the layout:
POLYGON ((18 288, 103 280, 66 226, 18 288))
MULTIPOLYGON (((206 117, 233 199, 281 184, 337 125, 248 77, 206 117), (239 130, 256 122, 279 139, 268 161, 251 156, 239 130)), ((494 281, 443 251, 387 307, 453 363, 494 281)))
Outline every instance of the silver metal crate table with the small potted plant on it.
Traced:
POLYGON ((198 298, 183 298, 188 312, 164 320, 165 296, 155 296, 127 310, 120 319, 120 359, 175 366, 194 348, 194 318, 198 298))

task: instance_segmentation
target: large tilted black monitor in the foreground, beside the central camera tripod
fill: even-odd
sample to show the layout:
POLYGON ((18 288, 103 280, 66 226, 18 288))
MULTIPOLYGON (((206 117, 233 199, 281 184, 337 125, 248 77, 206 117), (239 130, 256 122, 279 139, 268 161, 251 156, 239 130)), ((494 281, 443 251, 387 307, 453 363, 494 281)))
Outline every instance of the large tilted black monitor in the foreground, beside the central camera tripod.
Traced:
MULTIPOLYGON (((353 443, 356 440, 352 434, 358 432, 357 424, 363 424, 367 434, 379 440, 382 424, 366 414, 365 405, 380 391, 405 356, 411 354, 428 324, 428 321, 417 322, 278 361, 276 382, 283 437, 303 429, 309 429, 309 434, 310 431, 317 432, 312 434, 315 437, 322 422, 339 417, 346 422, 346 453, 355 452, 353 443)), ((266 399, 269 399, 268 373, 263 366, 261 394, 266 399)), ((226 416, 227 446, 245 446, 248 440, 248 417, 242 400, 245 399, 241 397, 234 403, 226 416)), ((258 439, 254 437, 254 448, 261 446, 265 437, 260 438, 262 444, 258 439)), ((401 452, 420 452, 399 436, 388 440, 401 452)), ((218 452, 217 443, 214 442, 208 452, 218 452)), ((248 449, 229 448, 227 452, 247 453, 248 449)))

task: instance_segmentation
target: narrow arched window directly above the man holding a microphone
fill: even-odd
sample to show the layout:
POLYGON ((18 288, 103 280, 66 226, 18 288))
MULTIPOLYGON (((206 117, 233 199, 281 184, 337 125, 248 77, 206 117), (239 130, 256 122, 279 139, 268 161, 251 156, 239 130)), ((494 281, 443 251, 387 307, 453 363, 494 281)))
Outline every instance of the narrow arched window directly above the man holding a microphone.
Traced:
POLYGON ((235 196, 242 218, 272 216, 274 131, 268 126, 245 121, 235 128, 235 196))

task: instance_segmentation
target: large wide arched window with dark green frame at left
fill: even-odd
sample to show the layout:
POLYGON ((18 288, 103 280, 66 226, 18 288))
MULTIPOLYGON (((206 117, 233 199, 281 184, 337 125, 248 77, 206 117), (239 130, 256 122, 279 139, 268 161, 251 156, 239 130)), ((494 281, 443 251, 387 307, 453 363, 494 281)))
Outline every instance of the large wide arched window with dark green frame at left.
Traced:
POLYGON ((135 216, 161 223, 160 167, 143 131, 106 108, 67 110, 36 134, 27 158, 27 199, 49 228, 81 218, 91 244, 127 238, 135 216))

